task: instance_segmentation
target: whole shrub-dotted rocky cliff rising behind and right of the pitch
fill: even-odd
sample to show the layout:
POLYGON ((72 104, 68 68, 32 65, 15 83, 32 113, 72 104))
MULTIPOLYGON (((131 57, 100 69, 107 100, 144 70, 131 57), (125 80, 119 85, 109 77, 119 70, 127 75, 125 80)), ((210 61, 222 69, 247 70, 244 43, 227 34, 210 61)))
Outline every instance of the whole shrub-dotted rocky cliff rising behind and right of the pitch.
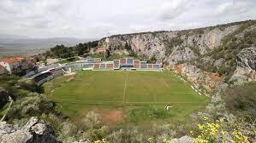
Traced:
POLYGON ((184 31, 156 31, 104 37, 113 54, 133 51, 179 72, 205 94, 225 83, 255 81, 256 21, 184 31))

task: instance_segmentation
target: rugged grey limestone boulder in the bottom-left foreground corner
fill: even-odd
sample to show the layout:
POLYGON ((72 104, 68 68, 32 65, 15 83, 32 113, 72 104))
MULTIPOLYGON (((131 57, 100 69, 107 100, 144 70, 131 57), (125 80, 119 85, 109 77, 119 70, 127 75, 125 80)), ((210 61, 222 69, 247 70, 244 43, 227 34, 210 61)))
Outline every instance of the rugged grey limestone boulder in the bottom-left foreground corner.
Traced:
POLYGON ((0 123, 1 143, 56 143, 53 130, 45 121, 32 117, 19 128, 6 122, 0 123))

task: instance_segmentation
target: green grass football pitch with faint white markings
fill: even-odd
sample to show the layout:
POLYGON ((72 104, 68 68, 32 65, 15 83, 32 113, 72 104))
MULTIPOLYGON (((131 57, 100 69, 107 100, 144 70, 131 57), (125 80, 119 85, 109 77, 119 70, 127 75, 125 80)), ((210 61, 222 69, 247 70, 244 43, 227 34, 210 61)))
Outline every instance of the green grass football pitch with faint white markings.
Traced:
POLYGON ((176 116, 206 105, 207 98, 172 72, 85 71, 45 83, 45 94, 77 116, 90 106, 174 106, 176 116), (181 112, 181 113, 179 113, 181 112))

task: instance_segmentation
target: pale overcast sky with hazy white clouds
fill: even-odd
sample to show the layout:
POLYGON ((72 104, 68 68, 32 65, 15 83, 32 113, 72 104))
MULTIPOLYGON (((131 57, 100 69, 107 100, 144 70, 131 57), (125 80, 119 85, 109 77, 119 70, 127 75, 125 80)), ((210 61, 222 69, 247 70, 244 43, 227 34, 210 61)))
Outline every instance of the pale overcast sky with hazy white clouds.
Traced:
POLYGON ((0 34, 106 37, 256 19, 256 0, 0 0, 0 34))

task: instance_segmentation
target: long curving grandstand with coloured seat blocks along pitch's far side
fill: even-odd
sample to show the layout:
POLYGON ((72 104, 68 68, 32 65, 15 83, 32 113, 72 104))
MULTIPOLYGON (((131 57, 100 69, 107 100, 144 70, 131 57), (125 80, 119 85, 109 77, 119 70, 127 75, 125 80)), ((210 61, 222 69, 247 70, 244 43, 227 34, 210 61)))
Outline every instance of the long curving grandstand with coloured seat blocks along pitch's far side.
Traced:
POLYGON ((134 58, 122 58, 121 60, 101 61, 99 58, 78 60, 66 64, 52 64, 44 66, 27 74, 25 77, 34 80, 38 85, 63 75, 65 72, 79 72, 84 70, 137 70, 137 71, 160 71, 159 64, 147 64, 146 61, 134 60, 134 58))

